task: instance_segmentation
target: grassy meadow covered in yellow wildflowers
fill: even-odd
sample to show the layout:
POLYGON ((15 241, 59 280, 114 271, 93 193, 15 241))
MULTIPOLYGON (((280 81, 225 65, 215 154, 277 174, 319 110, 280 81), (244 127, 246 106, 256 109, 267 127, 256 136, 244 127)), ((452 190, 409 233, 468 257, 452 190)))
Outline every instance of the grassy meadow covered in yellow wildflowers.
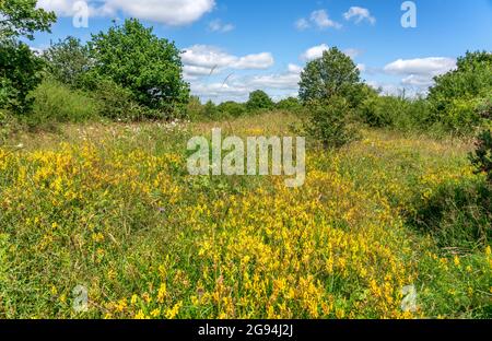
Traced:
POLYGON ((187 173, 191 136, 290 136, 293 121, 15 137, 0 148, 0 318, 492 317, 490 245, 413 223, 443 186, 483 180, 467 141, 365 130, 338 152, 308 149, 296 189, 187 173))

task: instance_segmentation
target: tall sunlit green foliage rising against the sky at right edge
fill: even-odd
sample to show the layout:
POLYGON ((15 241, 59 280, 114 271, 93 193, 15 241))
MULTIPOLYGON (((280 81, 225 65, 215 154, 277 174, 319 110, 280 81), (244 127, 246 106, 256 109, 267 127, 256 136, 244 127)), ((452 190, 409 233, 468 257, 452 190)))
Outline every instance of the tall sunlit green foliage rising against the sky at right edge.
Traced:
POLYGON ((492 93, 492 54, 467 52, 457 69, 435 78, 429 101, 432 121, 454 132, 470 132, 481 125, 477 109, 481 98, 492 93))

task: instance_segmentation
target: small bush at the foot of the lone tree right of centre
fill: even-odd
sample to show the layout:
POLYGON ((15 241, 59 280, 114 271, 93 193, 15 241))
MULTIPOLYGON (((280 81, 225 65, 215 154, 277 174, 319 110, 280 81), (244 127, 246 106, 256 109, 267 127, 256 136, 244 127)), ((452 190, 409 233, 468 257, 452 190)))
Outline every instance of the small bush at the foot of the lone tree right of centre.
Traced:
POLYGON ((304 129, 324 148, 341 148, 358 139, 358 132, 349 121, 353 109, 345 98, 331 96, 329 102, 312 102, 307 111, 304 129))

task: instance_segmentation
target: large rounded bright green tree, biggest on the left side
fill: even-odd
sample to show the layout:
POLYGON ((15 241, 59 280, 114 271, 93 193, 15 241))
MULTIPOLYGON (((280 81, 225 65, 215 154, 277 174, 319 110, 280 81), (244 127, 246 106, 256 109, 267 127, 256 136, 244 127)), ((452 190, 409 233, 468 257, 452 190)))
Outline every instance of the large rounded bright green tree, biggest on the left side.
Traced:
POLYGON ((174 43, 132 19, 93 35, 89 46, 94 72, 128 89, 137 103, 168 116, 185 110, 189 85, 183 80, 180 51, 174 43))

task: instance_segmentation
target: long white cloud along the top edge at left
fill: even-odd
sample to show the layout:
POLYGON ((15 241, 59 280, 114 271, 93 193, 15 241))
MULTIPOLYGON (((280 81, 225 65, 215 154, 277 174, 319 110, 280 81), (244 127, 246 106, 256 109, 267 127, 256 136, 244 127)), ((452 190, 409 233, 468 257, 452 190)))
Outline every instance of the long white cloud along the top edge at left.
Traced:
MULTIPOLYGON (((75 13, 77 0, 39 0, 38 7, 60 16, 75 13)), ((91 15, 115 16, 119 11, 132 17, 172 26, 190 24, 211 12, 215 0, 89 0, 91 15)))

